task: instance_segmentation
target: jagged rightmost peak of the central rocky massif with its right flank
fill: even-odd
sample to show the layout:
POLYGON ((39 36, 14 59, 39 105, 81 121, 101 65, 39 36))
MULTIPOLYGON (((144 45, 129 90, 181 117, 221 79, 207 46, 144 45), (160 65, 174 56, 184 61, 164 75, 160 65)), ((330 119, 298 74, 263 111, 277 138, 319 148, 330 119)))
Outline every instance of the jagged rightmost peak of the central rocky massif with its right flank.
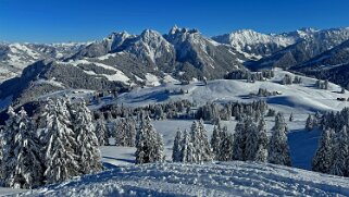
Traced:
MULTIPOLYGON (((229 71, 246 70, 245 57, 234 48, 203 37, 197 29, 173 27, 165 38, 176 49, 179 72, 196 72, 198 76, 217 78, 229 71)), ((190 75, 189 75, 190 76, 190 75)))

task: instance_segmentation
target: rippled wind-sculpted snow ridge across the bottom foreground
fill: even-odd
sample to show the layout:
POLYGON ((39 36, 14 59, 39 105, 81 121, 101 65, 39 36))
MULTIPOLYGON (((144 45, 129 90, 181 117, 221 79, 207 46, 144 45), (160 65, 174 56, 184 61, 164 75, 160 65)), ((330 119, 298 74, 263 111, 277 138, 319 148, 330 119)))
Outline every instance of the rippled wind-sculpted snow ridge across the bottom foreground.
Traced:
POLYGON ((348 196, 349 178, 252 162, 119 167, 23 196, 348 196))

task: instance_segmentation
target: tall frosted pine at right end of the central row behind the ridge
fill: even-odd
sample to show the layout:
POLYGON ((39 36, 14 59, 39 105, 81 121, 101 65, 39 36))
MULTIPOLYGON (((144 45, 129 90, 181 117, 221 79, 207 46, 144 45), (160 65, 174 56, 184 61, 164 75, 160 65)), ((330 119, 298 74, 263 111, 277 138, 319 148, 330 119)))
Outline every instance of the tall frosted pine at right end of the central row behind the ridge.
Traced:
POLYGON ((291 165, 289 147, 286 135, 286 123, 284 116, 278 113, 275 116, 275 126, 270 140, 269 162, 283 165, 291 165))

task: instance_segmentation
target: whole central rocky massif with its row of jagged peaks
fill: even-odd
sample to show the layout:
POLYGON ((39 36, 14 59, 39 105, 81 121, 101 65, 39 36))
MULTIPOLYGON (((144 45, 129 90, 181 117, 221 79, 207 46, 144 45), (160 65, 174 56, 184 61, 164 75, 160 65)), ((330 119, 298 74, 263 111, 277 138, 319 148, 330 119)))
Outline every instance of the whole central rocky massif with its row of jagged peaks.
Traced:
POLYGON ((203 76, 217 78, 229 71, 246 70, 241 64, 246 58, 233 47, 205 38, 196 29, 178 27, 172 28, 166 35, 151 29, 146 29, 140 35, 113 33, 67 60, 103 56, 123 67, 132 67, 134 63, 142 64, 148 72, 171 73, 177 78, 186 79, 203 76), (120 59, 121 54, 129 57, 132 62, 120 59))

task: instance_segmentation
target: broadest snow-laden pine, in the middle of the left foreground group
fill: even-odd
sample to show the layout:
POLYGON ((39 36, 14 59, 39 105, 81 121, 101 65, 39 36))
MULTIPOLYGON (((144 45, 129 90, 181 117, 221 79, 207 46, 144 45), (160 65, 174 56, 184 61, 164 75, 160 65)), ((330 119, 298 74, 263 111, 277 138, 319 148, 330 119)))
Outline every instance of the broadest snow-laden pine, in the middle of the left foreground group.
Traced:
POLYGON ((60 183, 80 175, 78 157, 75 153, 77 143, 70 122, 65 102, 49 100, 42 114, 45 149, 45 182, 60 183))

